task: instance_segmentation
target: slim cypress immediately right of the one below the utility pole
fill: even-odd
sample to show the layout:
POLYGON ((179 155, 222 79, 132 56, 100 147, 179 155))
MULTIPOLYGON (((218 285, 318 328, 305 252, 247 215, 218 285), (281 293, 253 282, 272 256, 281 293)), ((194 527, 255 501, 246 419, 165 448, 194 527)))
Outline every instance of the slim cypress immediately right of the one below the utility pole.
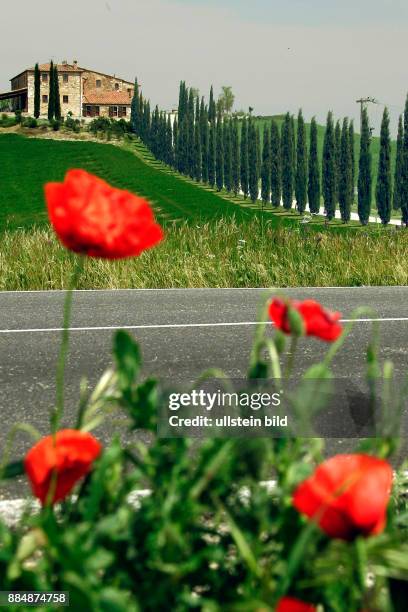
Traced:
POLYGON ((380 157, 378 160, 377 188, 375 193, 378 215, 381 223, 386 225, 391 219, 392 200, 390 118, 387 108, 384 109, 381 123, 380 157))

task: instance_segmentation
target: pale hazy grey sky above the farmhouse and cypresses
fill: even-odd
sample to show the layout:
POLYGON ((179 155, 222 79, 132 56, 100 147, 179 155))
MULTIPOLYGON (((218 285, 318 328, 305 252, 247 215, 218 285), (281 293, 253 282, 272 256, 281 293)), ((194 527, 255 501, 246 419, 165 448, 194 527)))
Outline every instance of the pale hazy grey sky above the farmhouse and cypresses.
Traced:
MULTIPOLYGON (((1 0, 3 3, 4 0, 1 0)), ((297 112, 320 122, 359 117, 355 100, 389 105, 408 91, 406 0, 31 0, 4 2, 0 90, 51 57, 142 82, 169 109, 178 84, 233 87, 236 107, 297 112), (14 24, 10 27, 10 24, 14 24)), ((378 126, 382 106, 371 107, 378 126)), ((395 131, 395 130, 394 130, 395 131)), ((378 130, 377 130, 378 132, 378 130)))

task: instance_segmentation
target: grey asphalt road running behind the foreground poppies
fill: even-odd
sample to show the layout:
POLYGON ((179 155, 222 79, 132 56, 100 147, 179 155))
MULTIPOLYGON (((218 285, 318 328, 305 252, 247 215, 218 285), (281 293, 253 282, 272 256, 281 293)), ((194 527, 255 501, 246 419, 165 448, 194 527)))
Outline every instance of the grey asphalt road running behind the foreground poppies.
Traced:
MULTIPOLYGON (((346 320, 358 306, 370 306, 380 320, 381 358, 394 362, 398 377, 408 371, 408 287, 301 288, 285 293, 317 299, 346 320)), ((146 374, 189 381, 208 367, 218 367, 233 378, 244 377, 257 312, 270 295, 265 289, 75 292, 64 424, 74 422, 81 378, 86 376, 93 385, 112 364, 112 336, 118 328, 129 328, 141 343, 146 374)), ((0 294, 0 451, 17 422, 49 431, 64 297, 59 291, 0 294)), ((360 317, 336 357, 333 369, 338 377, 362 377, 371 318, 360 317)), ((296 372, 316 362, 326 348, 323 342, 302 340, 296 372)), ((111 424, 98 435, 108 440, 111 424)), ((27 435, 19 434, 14 457, 29 444, 27 435)), ((18 486, 14 493, 20 493, 18 486)))

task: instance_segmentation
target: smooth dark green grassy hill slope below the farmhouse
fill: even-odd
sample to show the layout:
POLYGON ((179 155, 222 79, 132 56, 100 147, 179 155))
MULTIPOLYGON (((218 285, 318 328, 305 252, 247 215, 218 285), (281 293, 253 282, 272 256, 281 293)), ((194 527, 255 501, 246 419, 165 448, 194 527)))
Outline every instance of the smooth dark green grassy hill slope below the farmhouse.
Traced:
POLYGON ((226 200, 188 180, 162 172, 132 152, 110 144, 0 135, 0 228, 46 223, 43 185, 62 181, 69 168, 79 167, 112 185, 147 197, 161 223, 236 215, 256 211, 226 200))

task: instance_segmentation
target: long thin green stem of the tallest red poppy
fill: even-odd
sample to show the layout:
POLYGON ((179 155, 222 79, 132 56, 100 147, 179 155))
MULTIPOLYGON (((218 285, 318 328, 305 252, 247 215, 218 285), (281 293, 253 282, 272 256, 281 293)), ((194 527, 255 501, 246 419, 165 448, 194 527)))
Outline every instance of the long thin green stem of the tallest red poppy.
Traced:
POLYGON ((69 348, 69 324, 71 321, 73 290, 77 285, 78 279, 82 274, 83 268, 84 258, 79 257, 77 259, 77 263, 72 274, 70 287, 65 296, 63 330, 56 374, 56 407, 51 414, 51 430, 53 434, 55 434, 58 430, 62 415, 64 413, 65 366, 69 348))

